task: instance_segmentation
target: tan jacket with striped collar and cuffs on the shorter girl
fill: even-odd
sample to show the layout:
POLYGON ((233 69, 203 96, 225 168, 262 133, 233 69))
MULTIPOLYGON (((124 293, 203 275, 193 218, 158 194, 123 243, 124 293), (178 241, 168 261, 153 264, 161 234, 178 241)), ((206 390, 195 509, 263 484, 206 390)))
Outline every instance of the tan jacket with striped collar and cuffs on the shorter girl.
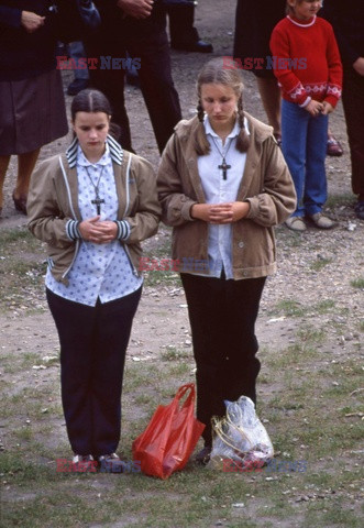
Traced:
MULTIPOLYGON (((156 233, 161 216, 155 174, 144 158, 123 151, 122 165, 113 162, 119 199, 118 220, 126 220, 130 237, 124 244, 134 273, 140 268, 140 242, 156 233)), ((67 274, 76 257, 80 240, 70 240, 66 224, 81 220, 78 208, 77 170, 65 155, 54 156, 38 165, 32 175, 26 202, 29 229, 47 243, 54 277, 67 284, 67 274)))

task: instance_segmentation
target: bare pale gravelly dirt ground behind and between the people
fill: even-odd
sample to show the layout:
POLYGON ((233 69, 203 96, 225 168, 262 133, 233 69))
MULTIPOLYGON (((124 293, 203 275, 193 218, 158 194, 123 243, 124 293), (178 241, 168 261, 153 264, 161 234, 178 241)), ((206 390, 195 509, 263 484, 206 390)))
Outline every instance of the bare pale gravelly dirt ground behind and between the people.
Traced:
MULTIPOLYGON (((234 10, 235 0, 199 2, 196 11, 196 26, 201 37, 213 43, 213 56, 232 53, 234 10)), ((173 75, 185 118, 191 117, 195 112, 197 72, 210 57, 211 55, 195 53, 172 53, 173 75)), ((254 76, 246 72, 243 75, 245 110, 265 121, 254 76)), ((64 80, 66 88, 70 80, 68 73, 64 76, 64 80)), ((69 108, 68 96, 66 96, 66 102, 69 108)), ((144 101, 137 88, 126 88, 126 103, 134 148, 157 167, 158 152, 144 101)), ((350 156, 341 103, 330 117, 330 127, 344 147, 342 157, 327 158, 331 200, 329 212, 335 218, 338 226, 330 232, 310 228, 300 237, 288 232, 284 227, 277 229, 278 273, 268 279, 264 292, 257 337, 261 348, 279 349, 295 341, 299 326, 322 327, 327 323, 331 330, 322 353, 328 353, 330 360, 335 360, 348 354, 359 358, 362 351, 357 326, 363 320, 363 290, 350 287, 350 283, 363 277, 364 222, 355 218, 352 208, 350 156), (320 261, 323 261, 326 266, 318 271, 313 264, 320 261), (334 312, 316 315, 313 307, 324 299, 335 304, 334 312), (286 300, 305 307, 305 315, 293 317, 289 314, 279 312, 277 306, 286 300)), ((45 146, 41 158, 64 151, 69 138, 70 135, 45 146)), ((15 168, 15 160, 13 160, 5 180, 0 237, 1 229, 23 226, 26 222, 25 217, 14 211, 11 200, 15 168)), ((159 233, 147 242, 148 251, 158 248, 168 237, 168 231, 162 227, 159 233)), ((16 309, 8 305, 1 307, 0 346, 4 353, 12 353, 15 356, 34 351, 37 351, 41 356, 57 353, 58 340, 53 320, 45 309, 44 297, 37 296, 34 302, 42 308, 35 315, 19 307, 16 309)), ((183 290, 179 287, 165 285, 146 287, 135 317, 128 361, 153 361, 156 367, 161 352, 168 345, 191 350, 183 290)), ((55 383, 58 383, 57 369, 30 371, 27 374, 26 378, 22 380, 16 380, 16 375, 13 374, 11 376, 14 383, 40 385, 43 376, 53 376, 55 383)), ((261 396, 267 396, 267 391, 279 391, 279 387, 260 387, 261 396)), ((64 428, 59 429, 59 433, 64 435, 64 428)))

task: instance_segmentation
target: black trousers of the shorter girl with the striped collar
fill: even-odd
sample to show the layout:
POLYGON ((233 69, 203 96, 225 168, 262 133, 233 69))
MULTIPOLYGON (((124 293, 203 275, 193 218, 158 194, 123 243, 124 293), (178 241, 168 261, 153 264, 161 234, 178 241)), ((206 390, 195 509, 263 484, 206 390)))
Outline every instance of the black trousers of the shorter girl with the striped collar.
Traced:
POLYGON ((77 454, 118 448, 125 352, 141 293, 89 307, 46 292, 60 342, 67 433, 77 454))

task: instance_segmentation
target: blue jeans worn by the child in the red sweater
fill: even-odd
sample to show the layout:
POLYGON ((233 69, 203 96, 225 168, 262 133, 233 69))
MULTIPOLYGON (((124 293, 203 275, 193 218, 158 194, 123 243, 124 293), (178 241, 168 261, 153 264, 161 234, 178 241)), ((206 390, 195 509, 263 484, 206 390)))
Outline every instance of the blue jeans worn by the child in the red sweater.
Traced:
POLYGON ((313 118, 305 108, 282 101, 282 152, 297 193, 293 217, 315 215, 328 198, 324 160, 328 116, 313 118))

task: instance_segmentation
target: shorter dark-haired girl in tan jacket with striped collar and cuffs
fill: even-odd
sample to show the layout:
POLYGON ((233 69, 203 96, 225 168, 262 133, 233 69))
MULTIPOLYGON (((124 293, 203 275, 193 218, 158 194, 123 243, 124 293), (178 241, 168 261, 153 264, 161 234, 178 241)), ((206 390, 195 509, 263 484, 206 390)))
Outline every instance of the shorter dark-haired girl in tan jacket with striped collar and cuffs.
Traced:
MULTIPOLYGON (((75 140, 38 165, 29 228, 47 243, 46 296, 60 341, 62 403, 74 463, 121 471, 125 352, 141 297, 140 242, 158 226, 155 176, 109 135, 106 97, 71 103, 75 140)), ((77 468, 77 465, 76 465, 77 468)))

